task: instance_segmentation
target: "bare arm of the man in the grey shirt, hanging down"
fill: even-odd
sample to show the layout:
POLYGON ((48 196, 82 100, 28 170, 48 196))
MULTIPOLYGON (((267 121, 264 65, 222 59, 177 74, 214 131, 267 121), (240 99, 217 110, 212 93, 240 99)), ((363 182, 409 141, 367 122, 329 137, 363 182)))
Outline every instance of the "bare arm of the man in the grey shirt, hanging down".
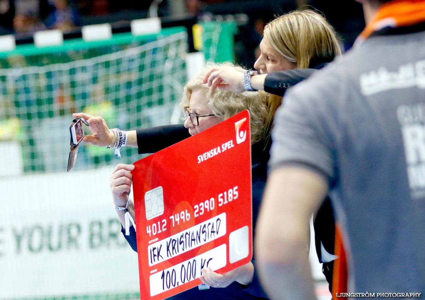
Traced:
POLYGON ((323 175, 284 166, 267 179, 255 235, 256 267, 272 299, 315 299, 309 265, 309 219, 328 191, 323 175))

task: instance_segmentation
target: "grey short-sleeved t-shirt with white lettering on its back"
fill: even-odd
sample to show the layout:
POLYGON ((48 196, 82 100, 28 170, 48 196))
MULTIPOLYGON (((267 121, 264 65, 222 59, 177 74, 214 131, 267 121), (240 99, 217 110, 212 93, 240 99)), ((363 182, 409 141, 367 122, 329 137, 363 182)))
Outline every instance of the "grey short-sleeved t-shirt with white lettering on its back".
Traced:
POLYGON ((371 37, 289 89, 272 140, 271 170, 329 180, 349 291, 425 293, 425 33, 371 37))

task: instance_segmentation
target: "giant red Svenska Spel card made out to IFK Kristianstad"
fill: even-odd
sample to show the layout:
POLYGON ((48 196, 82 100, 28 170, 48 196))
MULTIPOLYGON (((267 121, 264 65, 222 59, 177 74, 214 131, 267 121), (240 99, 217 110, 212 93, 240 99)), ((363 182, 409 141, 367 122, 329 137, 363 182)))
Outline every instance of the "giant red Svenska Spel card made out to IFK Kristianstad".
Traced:
POLYGON ((133 173, 142 299, 165 299, 252 258, 249 112, 137 161, 133 173))

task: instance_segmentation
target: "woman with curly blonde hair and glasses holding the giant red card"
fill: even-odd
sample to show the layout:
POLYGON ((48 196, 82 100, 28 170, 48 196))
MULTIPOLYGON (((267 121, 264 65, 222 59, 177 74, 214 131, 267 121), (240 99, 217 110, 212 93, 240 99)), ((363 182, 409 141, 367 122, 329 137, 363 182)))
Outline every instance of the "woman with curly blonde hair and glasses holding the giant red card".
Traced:
MULTIPOLYGON (((238 72, 246 71, 230 63, 224 65, 238 72)), ((269 155, 268 149, 263 151, 264 147, 260 143, 264 134, 264 124, 268 115, 266 106, 268 94, 263 92, 233 93, 221 90, 211 91, 207 85, 203 84, 202 80, 211 68, 218 66, 223 66, 223 64, 207 65, 195 79, 187 82, 185 85, 183 97, 180 102, 180 107, 185 115, 184 127, 186 132, 190 136, 193 136, 245 109, 249 110, 252 142, 252 219, 255 224, 265 186, 266 164, 269 155)), ((96 117, 88 118, 90 124, 93 124, 91 121, 95 120, 95 118, 96 117)), ((104 125, 106 126, 106 123, 104 125)), ((113 204, 117 207, 125 207, 127 204, 132 184, 132 170, 134 170, 134 165, 118 164, 111 175, 110 187, 113 196, 113 204)), ((188 184, 190 184, 190 182, 188 182, 188 184)), ((134 219, 133 201, 130 201, 127 209, 134 219)), ((125 238, 133 250, 137 251, 136 232, 134 227, 130 224, 129 228, 125 228, 124 210, 117 210, 116 212, 122 223, 122 232, 125 238), (125 232, 126 230, 128 235, 125 232)), ((218 274, 210 268, 202 269, 202 273, 203 276, 200 279, 203 283, 210 286, 210 289, 200 290, 198 287, 195 287, 168 299, 267 299, 258 281, 254 268, 254 261, 224 274, 218 274)))

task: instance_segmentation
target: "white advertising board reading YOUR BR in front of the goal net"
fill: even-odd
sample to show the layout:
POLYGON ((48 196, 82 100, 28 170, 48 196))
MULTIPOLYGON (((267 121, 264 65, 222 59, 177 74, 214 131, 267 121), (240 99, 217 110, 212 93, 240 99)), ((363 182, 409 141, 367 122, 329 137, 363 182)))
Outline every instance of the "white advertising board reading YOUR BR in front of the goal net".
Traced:
POLYGON ((139 292, 137 254, 113 209, 112 171, 1 177, 0 299, 139 292))

